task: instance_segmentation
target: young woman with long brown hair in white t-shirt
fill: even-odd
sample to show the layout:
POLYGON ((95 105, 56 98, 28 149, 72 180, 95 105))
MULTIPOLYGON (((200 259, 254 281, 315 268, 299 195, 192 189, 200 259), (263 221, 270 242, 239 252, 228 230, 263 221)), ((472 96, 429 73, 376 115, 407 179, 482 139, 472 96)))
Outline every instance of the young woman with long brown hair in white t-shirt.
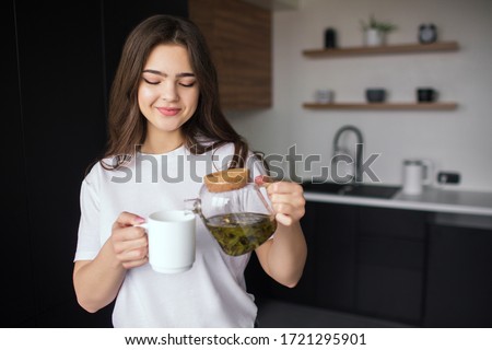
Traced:
MULTIPOLYGON (((197 198, 212 156, 213 166, 232 159, 227 164, 241 167, 251 154, 220 108, 215 68, 194 23, 154 15, 130 33, 108 130, 107 150, 81 188, 73 270, 80 305, 93 313, 116 299, 115 327, 253 327, 257 307, 244 279, 249 254, 225 255, 198 220, 194 267, 157 273, 137 226, 153 211, 197 198)), ((278 182, 267 191, 278 229, 255 253, 266 273, 294 287, 306 259, 303 190, 278 182)))

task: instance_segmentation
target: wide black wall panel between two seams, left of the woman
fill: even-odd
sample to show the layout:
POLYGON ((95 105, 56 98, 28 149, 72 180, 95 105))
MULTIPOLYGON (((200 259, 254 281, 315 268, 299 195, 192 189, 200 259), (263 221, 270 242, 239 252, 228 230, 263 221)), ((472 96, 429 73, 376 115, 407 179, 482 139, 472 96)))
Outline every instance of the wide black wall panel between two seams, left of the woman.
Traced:
POLYGON ((97 1, 16 1, 38 315, 74 302, 79 189, 105 139, 99 19, 97 1))

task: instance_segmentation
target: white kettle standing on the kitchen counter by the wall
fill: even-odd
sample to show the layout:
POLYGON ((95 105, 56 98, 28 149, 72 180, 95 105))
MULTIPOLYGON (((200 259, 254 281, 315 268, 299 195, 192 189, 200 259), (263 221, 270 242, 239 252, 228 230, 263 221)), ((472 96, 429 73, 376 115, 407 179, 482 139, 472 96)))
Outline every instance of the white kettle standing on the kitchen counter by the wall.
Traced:
POLYGON ((423 186, 432 185, 432 162, 409 159, 403 161, 403 194, 420 195, 423 186))

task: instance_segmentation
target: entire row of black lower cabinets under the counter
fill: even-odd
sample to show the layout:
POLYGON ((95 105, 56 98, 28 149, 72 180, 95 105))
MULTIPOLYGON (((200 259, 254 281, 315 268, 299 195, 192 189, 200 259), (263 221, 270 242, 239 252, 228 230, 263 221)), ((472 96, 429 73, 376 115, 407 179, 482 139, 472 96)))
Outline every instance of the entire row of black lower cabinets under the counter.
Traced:
POLYGON ((417 327, 492 327, 492 218, 309 201, 308 262, 259 296, 417 327))

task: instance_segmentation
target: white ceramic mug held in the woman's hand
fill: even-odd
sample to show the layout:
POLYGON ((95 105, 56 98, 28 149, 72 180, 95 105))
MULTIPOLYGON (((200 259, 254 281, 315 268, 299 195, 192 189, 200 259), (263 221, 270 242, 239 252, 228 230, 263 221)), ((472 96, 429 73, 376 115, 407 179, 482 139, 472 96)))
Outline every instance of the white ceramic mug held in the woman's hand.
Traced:
POLYGON ((149 237, 149 264, 161 273, 189 270, 195 262, 196 219, 189 210, 163 210, 140 226, 149 237))

